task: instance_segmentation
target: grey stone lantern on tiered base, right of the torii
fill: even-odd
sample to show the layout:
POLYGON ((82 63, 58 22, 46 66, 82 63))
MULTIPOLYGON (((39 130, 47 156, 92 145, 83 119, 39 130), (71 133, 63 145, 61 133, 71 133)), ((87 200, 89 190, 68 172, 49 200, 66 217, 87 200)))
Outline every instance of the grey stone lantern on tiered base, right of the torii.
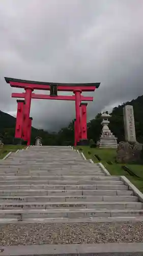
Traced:
POLYGON ((103 112, 102 114, 102 122, 103 125, 102 134, 100 136, 100 140, 97 142, 98 147, 108 147, 108 148, 117 148, 118 142, 115 135, 113 135, 108 127, 109 120, 111 115, 108 112, 103 112))

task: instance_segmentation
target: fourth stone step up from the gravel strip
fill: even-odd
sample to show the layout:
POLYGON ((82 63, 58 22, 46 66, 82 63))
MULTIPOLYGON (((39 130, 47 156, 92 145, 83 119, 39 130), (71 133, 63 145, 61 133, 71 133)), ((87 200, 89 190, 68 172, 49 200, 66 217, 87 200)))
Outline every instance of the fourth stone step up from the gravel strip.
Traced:
POLYGON ((75 196, 75 195, 56 195, 56 196, 0 196, 0 203, 5 202, 55 202, 55 201, 115 201, 115 202, 137 202, 136 196, 75 196))

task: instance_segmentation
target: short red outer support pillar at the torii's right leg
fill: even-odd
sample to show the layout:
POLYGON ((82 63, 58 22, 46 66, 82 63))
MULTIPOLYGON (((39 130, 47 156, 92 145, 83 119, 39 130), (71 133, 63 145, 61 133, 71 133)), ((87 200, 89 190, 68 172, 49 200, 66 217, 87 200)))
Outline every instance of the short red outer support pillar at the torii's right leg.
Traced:
POLYGON ((87 133, 87 105, 88 103, 81 103, 81 119, 80 119, 80 127, 81 127, 81 139, 80 145, 88 145, 88 133, 87 133))

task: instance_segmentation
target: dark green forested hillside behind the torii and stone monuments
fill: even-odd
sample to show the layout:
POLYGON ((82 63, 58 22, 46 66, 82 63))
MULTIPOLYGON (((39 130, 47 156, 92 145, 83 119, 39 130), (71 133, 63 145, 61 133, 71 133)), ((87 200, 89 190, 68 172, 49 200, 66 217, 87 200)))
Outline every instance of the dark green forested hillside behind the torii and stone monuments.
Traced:
MULTIPOLYGON (((143 95, 130 102, 126 102, 112 110, 110 118, 110 130, 118 138, 118 141, 124 141, 124 123, 123 108, 125 105, 133 105, 134 119, 137 141, 143 143, 143 95)), ((0 113, 0 134, 5 144, 13 144, 15 134, 16 118, 4 113, 0 113)), ((101 113, 88 122, 88 138, 95 143, 101 133, 101 113)), ((71 121, 68 127, 63 127, 58 133, 49 133, 32 127, 31 144, 35 144, 35 138, 42 137, 43 145, 73 145, 74 144, 74 121, 71 121)))

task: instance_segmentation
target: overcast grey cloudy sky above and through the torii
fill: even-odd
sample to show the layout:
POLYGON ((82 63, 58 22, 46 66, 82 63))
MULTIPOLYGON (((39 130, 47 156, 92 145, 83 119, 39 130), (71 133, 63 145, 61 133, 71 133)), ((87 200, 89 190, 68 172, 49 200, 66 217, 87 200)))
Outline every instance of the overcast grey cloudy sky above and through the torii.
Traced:
MULTIPOLYGON (((101 82, 87 93, 88 120, 142 95, 142 13, 142 0, 0 0, 0 109, 16 115, 19 90, 4 76, 101 82)), ((33 126, 57 131, 75 118, 75 104, 33 100, 31 116, 33 126)))

